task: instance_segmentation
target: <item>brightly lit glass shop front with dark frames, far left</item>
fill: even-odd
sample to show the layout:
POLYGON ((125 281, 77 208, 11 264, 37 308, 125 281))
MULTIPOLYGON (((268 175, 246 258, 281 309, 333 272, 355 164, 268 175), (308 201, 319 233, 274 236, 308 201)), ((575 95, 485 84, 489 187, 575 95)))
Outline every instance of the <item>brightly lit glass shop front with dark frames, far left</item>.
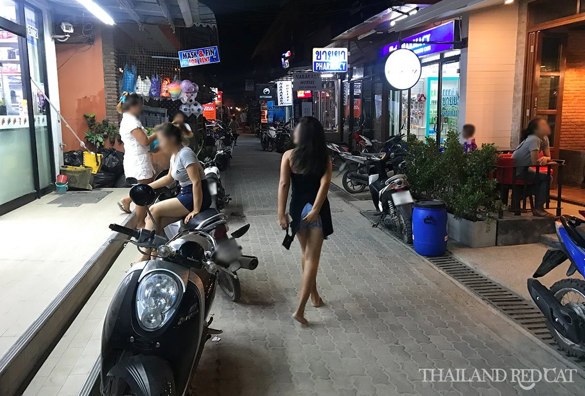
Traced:
POLYGON ((54 46, 47 51, 46 11, 12 0, 1 0, 0 9, 1 215, 53 190, 55 139, 45 98, 47 63, 56 64, 54 46))

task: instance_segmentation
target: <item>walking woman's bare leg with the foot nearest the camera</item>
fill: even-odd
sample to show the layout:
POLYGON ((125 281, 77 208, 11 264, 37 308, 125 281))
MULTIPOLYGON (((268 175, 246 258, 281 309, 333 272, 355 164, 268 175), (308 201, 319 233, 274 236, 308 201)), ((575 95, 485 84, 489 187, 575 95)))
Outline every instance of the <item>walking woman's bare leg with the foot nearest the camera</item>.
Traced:
POLYGON ((292 318, 301 323, 307 323, 305 305, 311 295, 311 291, 316 291, 317 268, 319 267, 321 247, 323 246, 323 230, 321 228, 309 228, 301 230, 297 235, 301 235, 301 238, 305 239, 305 253, 303 254, 304 268, 302 270, 298 307, 292 314, 292 318))

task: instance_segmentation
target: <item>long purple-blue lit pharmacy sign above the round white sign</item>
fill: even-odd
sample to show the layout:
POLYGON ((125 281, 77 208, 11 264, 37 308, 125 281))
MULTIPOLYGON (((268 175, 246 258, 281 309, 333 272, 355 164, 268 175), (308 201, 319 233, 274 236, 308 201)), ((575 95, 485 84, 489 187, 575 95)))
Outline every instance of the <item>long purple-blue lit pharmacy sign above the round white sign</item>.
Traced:
MULTIPOLYGON (((453 44, 429 44, 429 42, 453 42, 455 40, 455 21, 452 20, 451 22, 443 23, 443 25, 431 27, 431 29, 406 37, 403 40, 415 43, 402 43, 400 48, 411 50, 418 56, 452 50, 453 44)), ((395 42, 382 47, 381 56, 397 50, 398 44, 399 42, 395 42)))

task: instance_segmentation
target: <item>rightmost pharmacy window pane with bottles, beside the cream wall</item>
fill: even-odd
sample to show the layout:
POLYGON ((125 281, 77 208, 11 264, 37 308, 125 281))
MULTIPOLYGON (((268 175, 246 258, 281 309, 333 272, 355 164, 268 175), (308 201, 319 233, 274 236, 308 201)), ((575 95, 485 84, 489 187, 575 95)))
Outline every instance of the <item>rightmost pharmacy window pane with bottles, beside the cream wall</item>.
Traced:
POLYGON ((457 132, 459 119, 459 62, 443 63, 441 77, 441 144, 447 133, 457 132))

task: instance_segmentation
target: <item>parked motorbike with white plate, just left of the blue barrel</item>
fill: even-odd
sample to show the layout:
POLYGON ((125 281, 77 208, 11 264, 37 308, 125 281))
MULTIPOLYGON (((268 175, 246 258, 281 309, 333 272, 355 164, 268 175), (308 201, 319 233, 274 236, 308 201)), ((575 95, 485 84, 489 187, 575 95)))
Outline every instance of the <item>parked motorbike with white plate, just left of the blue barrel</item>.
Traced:
MULTIPOLYGON (((374 206, 380 211, 380 222, 402 235, 404 243, 412 243, 412 205, 414 199, 410 185, 404 174, 395 173, 388 177, 387 164, 401 170, 404 168, 404 156, 395 153, 378 154, 370 159, 374 164, 374 173, 369 176, 370 194, 374 206)), ((379 222, 378 222, 379 223, 379 222)), ((377 226, 378 224, 375 224, 377 226)))

